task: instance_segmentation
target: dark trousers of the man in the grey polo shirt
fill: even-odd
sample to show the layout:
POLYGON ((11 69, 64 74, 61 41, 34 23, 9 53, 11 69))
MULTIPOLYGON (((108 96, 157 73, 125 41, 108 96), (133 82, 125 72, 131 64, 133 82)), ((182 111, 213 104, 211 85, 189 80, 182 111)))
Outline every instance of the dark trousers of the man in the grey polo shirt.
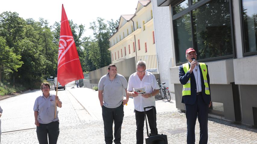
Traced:
POLYGON ((123 104, 116 108, 102 106, 102 116, 104 121, 105 143, 111 144, 113 140, 112 125, 114 122, 114 143, 121 143, 121 125, 123 122, 123 104))

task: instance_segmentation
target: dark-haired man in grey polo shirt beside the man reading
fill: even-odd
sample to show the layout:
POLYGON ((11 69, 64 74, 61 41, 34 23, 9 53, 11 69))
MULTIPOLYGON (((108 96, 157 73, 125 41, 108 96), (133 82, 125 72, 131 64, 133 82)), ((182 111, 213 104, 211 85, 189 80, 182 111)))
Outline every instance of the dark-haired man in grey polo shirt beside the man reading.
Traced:
POLYGON ((98 97, 102 107, 104 121, 105 143, 111 144, 113 140, 112 125, 114 121, 114 143, 121 143, 121 125, 123 122, 123 107, 127 104, 127 80, 117 73, 115 64, 108 66, 108 73, 101 77, 98 84, 98 97), (126 100, 123 100, 124 90, 126 100))

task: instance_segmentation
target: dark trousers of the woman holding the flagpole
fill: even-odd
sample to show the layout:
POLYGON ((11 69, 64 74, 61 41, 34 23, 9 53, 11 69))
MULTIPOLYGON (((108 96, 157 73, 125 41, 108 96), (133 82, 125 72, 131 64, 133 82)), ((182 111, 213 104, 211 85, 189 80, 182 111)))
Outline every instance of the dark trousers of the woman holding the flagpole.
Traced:
POLYGON ((39 144, 48 144, 47 134, 49 139, 49 144, 56 144, 59 136, 59 122, 50 122, 49 124, 39 124, 36 127, 36 135, 39 144))

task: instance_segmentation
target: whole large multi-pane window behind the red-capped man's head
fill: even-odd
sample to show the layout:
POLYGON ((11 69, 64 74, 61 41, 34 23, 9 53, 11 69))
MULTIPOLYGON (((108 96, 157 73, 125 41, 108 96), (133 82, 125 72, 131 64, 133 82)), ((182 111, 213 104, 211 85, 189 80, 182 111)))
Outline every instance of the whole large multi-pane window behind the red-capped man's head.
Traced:
POLYGON ((190 47, 199 61, 234 57, 230 0, 186 0, 172 9, 177 65, 190 47))

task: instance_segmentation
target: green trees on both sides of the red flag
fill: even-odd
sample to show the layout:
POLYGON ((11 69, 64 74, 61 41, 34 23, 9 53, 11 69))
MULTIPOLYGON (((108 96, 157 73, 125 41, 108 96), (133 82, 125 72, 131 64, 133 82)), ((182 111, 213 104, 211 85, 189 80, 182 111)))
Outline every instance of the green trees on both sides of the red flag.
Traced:
MULTIPOLYGON (((118 20, 97 18, 90 24, 92 37, 83 37, 85 26, 69 20, 83 72, 111 63, 108 51, 118 20)), ((46 19, 23 19, 16 12, 0 14, 0 83, 23 84, 28 88, 57 74, 60 22, 49 26, 46 19)))

